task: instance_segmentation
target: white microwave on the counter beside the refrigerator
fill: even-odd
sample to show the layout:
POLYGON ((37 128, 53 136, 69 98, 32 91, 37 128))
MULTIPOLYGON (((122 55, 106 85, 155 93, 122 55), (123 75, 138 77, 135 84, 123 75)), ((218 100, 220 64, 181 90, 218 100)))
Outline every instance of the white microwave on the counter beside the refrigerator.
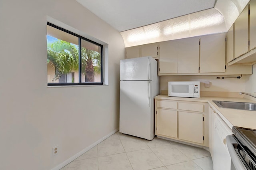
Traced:
POLYGON ((169 81, 168 96, 200 98, 200 81, 169 81))

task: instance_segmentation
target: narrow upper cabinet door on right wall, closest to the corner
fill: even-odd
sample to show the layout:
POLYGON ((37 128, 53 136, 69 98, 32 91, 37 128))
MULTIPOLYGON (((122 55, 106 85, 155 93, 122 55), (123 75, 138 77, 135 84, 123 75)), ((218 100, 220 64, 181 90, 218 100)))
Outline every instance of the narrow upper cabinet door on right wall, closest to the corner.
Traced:
POLYGON ((227 61, 234 59, 234 24, 230 27, 227 33, 227 61))

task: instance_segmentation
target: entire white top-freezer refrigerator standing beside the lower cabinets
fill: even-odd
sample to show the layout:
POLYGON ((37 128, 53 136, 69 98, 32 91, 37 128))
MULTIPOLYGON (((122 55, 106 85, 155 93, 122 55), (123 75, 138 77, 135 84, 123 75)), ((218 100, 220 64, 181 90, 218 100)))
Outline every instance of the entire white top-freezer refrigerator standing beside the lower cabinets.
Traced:
POLYGON ((121 133, 154 138, 154 97, 160 92, 157 66, 150 56, 120 61, 121 133))

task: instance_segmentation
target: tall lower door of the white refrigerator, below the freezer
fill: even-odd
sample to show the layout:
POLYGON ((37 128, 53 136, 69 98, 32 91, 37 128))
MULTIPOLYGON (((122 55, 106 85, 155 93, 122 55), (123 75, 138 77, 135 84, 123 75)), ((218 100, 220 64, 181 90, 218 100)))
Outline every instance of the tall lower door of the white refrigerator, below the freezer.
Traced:
POLYGON ((121 133, 148 140, 154 138, 154 106, 151 81, 120 81, 121 133))

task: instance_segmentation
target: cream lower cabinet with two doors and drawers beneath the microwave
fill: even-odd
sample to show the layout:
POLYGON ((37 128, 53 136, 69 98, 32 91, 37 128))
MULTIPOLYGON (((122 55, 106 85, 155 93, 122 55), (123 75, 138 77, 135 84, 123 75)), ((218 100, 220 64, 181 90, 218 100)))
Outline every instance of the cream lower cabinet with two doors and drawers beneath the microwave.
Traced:
POLYGON ((208 146, 208 103, 156 99, 156 135, 208 146))

